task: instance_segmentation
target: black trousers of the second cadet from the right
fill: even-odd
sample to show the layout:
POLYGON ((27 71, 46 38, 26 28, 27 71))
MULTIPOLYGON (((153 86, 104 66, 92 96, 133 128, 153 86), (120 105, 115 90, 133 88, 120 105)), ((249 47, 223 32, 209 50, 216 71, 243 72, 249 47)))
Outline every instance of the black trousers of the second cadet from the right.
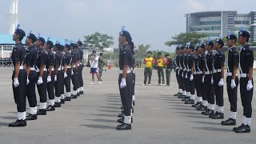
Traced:
POLYGON ((226 89, 227 89, 227 94, 229 97, 229 101, 230 101, 230 111, 232 112, 237 112, 238 109, 238 85, 239 85, 239 80, 238 77, 235 77, 234 82, 236 84, 236 86, 234 87, 234 89, 231 89, 231 76, 227 76, 226 77, 226 89))

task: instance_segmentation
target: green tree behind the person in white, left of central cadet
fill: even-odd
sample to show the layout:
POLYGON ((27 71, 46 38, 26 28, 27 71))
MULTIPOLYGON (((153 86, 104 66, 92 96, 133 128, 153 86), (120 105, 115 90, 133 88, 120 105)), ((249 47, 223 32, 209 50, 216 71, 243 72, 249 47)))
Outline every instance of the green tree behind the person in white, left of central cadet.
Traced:
POLYGON ((100 34, 95 32, 84 36, 84 45, 92 49, 98 49, 104 51, 104 48, 109 48, 114 45, 114 38, 108 34, 100 34))

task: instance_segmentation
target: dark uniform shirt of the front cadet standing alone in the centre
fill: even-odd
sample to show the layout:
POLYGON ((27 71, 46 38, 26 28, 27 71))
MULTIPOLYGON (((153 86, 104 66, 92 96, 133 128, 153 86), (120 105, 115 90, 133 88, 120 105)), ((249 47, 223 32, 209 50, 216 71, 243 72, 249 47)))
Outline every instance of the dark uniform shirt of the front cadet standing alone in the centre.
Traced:
POLYGON ((123 70, 124 65, 128 65, 130 68, 133 65, 133 54, 128 44, 125 44, 120 48, 120 54, 119 54, 120 70, 123 70))

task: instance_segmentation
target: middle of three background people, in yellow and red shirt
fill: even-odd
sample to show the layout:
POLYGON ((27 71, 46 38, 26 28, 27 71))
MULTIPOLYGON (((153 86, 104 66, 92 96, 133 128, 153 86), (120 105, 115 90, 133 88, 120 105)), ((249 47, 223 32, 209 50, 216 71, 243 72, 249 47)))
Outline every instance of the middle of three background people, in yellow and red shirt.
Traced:
POLYGON ((162 86, 165 86, 165 74, 163 72, 165 66, 165 59, 162 58, 162 53, 158 52, 157 66, 158 66, 158 85, 161 86, 161 76, 162 76, 162 86))

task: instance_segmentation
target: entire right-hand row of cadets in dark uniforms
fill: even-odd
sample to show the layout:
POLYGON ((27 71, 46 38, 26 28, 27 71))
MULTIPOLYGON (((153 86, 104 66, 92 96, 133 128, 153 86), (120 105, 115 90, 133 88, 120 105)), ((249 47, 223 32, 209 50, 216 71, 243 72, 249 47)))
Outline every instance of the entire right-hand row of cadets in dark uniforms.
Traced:
MULTIPOLYGON (((227 46, 229 53, 227 58, 226 88, 230 102, 230 117, 222 121, 222 126, 235 126, 237 117, 238 84, 240 83, 240 95, 243 106, 242 125, 234 127, 235 133, 250 133, 250 123, 253 98, 253 51, 248 45, 250 34, 241 30, 238 38, 228 31, 227 46), (240 56, 235 46, 241 44, 240 56), (240 71, 240 82, 238 80, 240 71)), ((186 46, 178 46, 176 49, 176 78, 178 81, 178 98, 182 98, 185 104, 192 104, 196 110, 212 119, 224 118, 224 65, 225 55, 222 50, 224 42, 221 37, 212 42, 210 38, 204 44, 203 40, 195 48, 186 43, 186 46), (194 52, 193 52, 194 49, 194 52), (215 52, 213 52, 215 50, 215 52), (194 102, 194 90, 197 94, 197 102, 194 102), (195 104, 194 104, 195 103, 195 104), (215 112, 214 112, 215 110, 215 112)))

